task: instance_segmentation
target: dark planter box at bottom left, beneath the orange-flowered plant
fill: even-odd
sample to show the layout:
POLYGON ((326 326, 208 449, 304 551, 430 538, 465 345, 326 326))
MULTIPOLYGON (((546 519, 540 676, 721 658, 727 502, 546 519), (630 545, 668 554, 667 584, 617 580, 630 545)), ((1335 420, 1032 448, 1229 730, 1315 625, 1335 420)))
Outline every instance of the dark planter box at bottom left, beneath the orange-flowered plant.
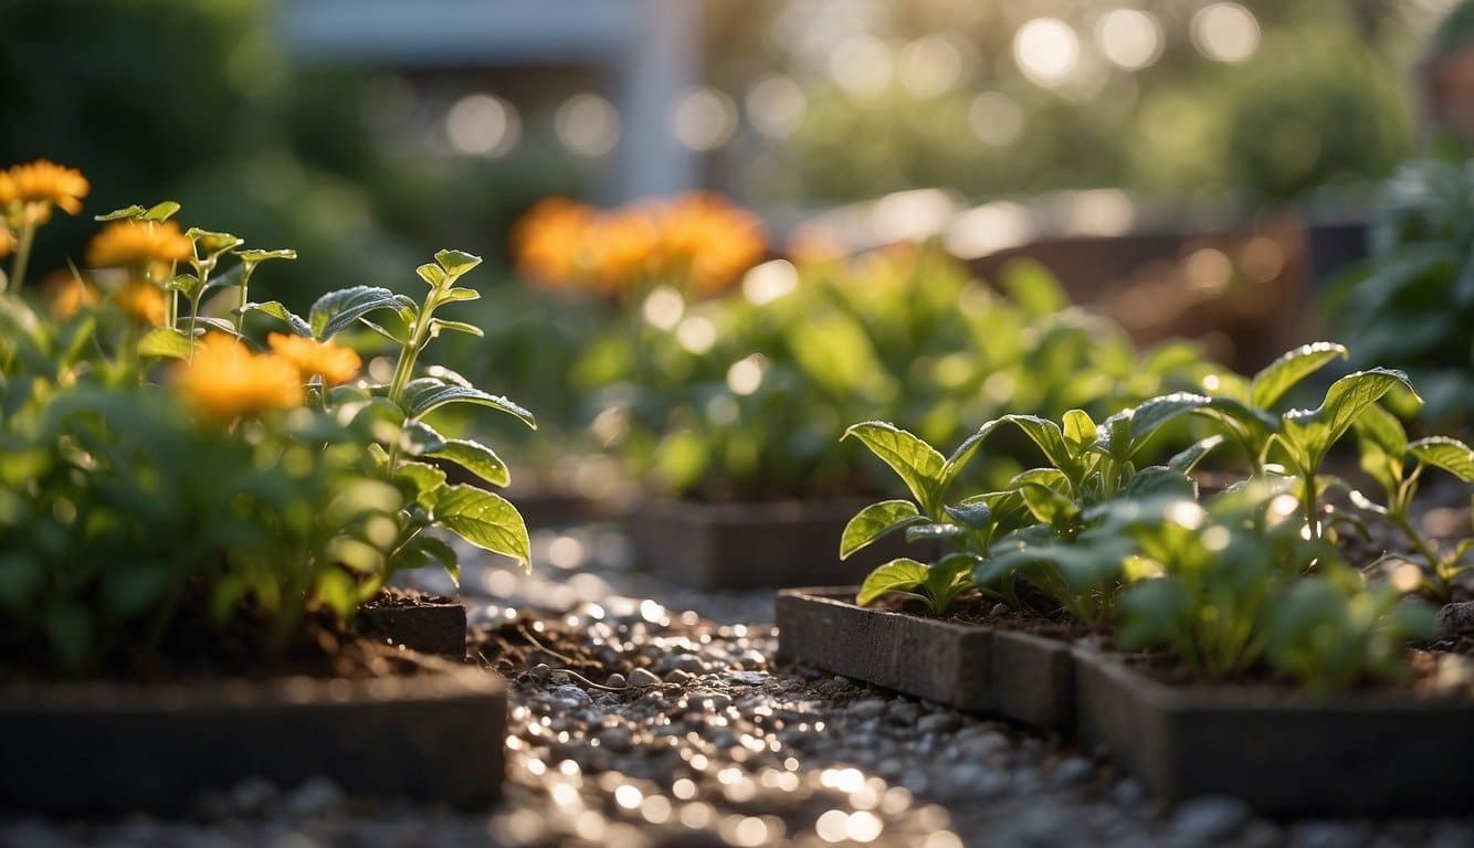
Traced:
POLYGON ((494 801, 507 724, 500 679, 366 651, 383 674, 0 688, 0 807, 180 813, 200 792, 251 777, 290 788, 314 776, 360 796, 494 801))

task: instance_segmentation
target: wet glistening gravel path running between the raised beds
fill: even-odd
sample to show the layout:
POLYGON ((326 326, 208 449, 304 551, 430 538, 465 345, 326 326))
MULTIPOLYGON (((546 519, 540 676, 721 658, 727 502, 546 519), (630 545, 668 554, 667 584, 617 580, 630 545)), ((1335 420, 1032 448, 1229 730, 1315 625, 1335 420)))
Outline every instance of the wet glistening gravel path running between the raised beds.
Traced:
POLYGON ((535 554, 532 577, 486 558, 464 574, 473 646, 497 660, 519 645, 501 657, 511 735, 491 814, 248 782, 186 820, 0 820, 0 845, 1474 845, 1474 819, 1271 823, 1226 798, 1164 810, 1060 739, 775 665, 768 592, 634 573, 601 527, 538 533, 535 554))

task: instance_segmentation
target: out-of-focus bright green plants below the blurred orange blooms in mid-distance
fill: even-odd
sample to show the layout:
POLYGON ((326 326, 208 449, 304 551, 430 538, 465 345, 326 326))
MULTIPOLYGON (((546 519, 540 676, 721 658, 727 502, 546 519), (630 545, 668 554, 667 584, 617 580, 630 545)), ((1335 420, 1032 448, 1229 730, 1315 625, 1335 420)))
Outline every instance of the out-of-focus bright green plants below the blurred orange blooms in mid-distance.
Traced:
MULTIPOLYGON (((1005 293, 971 280, 930 244, 774 261, 740 293, 652 292, 641 327, 591 342, 575 378, 591 392, 595 436, 649 487, 764 501, 890 489, 853 442, 834 445, 852 421, 904 421, 929 443, 957 443, 970 421, 1104 414, 1216 371, 1182 344, 1138 356, 1039 268, 1010 268, 1001 283, 1005 293)), ((996 487, 1032 455, 1016 439, 971 473, 996 487)))

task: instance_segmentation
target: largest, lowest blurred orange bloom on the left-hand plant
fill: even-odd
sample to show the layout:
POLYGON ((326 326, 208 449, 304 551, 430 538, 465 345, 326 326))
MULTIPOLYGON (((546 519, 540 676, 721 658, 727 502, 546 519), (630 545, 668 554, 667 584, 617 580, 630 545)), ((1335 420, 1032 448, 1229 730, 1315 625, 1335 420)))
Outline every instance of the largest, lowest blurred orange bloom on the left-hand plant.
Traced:
POLYGON ((184 398, 215 421, 234 421, 302 403, 296 367, 280 356, 252 353, 245 344, 211 333, 195 356, 174 370, 184 398))

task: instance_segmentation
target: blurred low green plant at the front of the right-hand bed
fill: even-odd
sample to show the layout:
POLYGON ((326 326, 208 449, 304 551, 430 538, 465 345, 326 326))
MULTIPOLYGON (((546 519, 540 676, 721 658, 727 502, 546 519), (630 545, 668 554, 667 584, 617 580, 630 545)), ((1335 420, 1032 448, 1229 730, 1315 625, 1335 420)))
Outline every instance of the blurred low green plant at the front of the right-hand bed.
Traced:
POLYGON ((1368 587, 1335 548, 1306 539, 1285 483, 1250 481, 1204 509, 1192 501, 1113 505, 1103 529, 1136 546, 1142 577, 1120 598, 1117 643, 1167 648, 1222 680, 1262 662, 1316 692, 1394 676, 1431 611, 1368 587), (1310 567, 1313 576, 1304 576, 1310 567))

